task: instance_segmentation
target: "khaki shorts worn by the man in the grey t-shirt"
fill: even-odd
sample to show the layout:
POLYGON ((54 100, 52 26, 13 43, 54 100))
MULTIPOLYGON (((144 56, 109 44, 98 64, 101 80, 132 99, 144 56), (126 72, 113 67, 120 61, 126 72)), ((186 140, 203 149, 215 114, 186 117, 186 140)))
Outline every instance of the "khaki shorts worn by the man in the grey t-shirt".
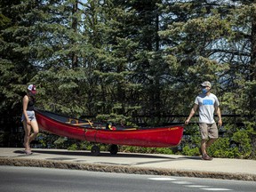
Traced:
POLYGON ((219 137, 219 131, 217 124, 205 124, 199 123, 200 133, 202 140, 217 139, 219 137))

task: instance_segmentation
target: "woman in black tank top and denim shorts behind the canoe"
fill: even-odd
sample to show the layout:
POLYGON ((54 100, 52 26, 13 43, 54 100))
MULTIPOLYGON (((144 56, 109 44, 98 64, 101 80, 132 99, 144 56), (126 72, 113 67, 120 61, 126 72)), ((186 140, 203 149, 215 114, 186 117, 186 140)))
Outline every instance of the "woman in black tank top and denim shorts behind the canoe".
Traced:
POLYGON ((35 96, 36 96, 36 86, 34 84, 29 84, 27 95, 25 95, 23 98, 23 113, 21 118, 24 130, 25 130, 23 145, 25 147, 26 155, 32 154, 29 144, 32 140, 35 140, 36 135, 39 132, 38 124, 36 122, 35 111, 34 111, 34 105, 36 102, 35 96), (32 134, 30 134, 31 127, 33 129, 32 134))

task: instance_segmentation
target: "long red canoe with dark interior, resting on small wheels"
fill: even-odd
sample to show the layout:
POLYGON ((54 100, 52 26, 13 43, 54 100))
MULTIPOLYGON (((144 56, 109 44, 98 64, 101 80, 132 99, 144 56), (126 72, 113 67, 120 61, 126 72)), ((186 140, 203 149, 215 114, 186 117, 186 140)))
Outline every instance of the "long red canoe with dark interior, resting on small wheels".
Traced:
POLYGON ((106 124, 60 116, 38 109, 36 110, 36 120, 40 129, 63 137, 104 144, 153 148, 178 146, 184 128, 181 125, 154 128, 110 127, 109 125, 106 127, 106 124))

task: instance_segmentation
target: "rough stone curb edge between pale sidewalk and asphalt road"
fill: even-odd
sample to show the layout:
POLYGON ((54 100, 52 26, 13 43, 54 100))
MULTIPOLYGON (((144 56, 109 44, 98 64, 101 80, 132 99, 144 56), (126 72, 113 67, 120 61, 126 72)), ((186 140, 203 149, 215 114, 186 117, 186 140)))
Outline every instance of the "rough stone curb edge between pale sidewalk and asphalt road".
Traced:
POLYGON ((211 178, 221 180, 249 180, 256 181, 256 174, 244 173, 227 173, 227 172, 198 172, 174 169, 160 169, 160 168, 142 168, 132 167, 127 165, 112 165, 112 164, 84 164, 84 163, 70 163, 60 162, 54 160, 36 160, 26 158, 1 158, 0 165, 11 166, 30 166, 43 167, 55 169, 70 169, 70 170, 84 170, 91 172, 116 172, 129 174, 150 174, 150 175, 164 175, 164 176, 178 176, 178 177, 196 177, 196 178, 211 178))

